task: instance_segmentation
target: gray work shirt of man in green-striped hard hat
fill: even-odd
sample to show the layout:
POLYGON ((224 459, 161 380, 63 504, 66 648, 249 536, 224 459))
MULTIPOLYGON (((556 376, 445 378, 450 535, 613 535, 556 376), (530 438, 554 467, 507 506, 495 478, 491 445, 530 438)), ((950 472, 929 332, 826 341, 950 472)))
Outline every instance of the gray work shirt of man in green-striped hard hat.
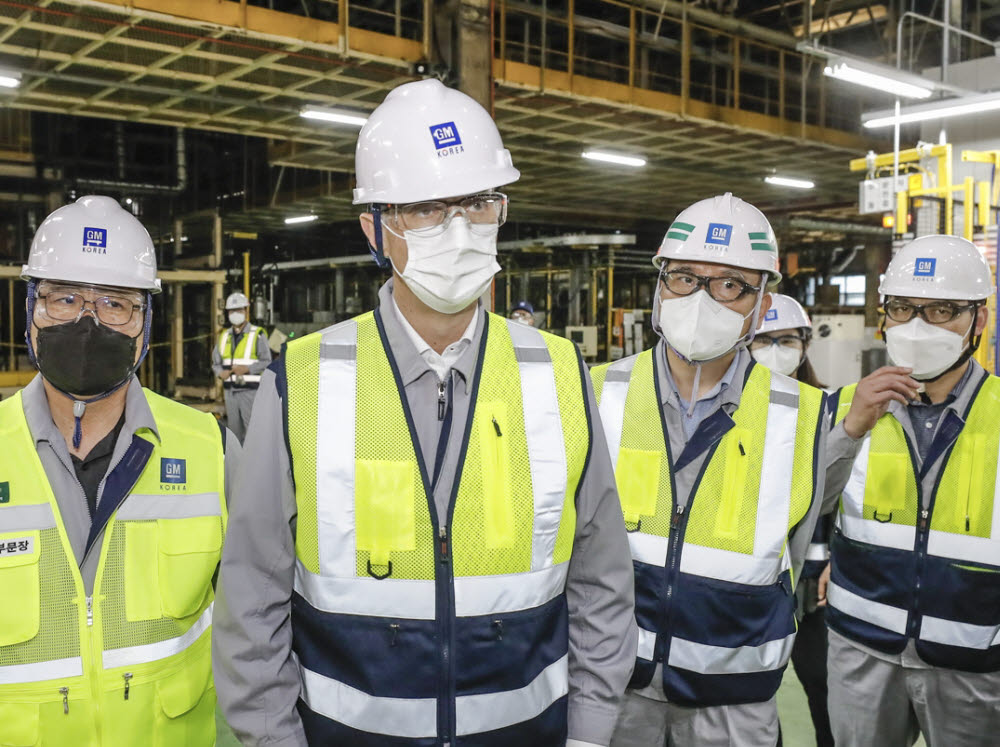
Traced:
MULTIPOLYGON (((670 366, 667 364, 667 349, 663 340, 656 343, 653 351, 656 356, 656 370, 659 377, 660 387, 660 407, 663 410, 664 422, 667 426, 667 436, 670 439, 670 453, 676 459, 687 446, 690 440, 689 434, 693 435, 703 420, 714 415, 718 410, 722 410, 727 415, 732 416, 740 406, 743 398, 743 385, 747 377, 747 368, 752 362, 750 353, 745 348, 740 348, 736 352, 736 357, 730 364, 726 373, 723 374, 719 384, 706 393, 705 397, 698 400, 693 411, 693 417, 688 417, 690 403, 681 399, 670 374, 670 366)), ((825 422, 821 424, 817 433, 819 441, 816 448, 819 454, 824 454, 826 449, 827 427, 825 422)), ((694 489, 698 475, 701 474, 705 459, 708 457, 709 444, 700 454, 680 469, 673 471, 674 485, 676 487, 675 500, 678 504, 687 506, 691 498, 691 491, 694 489)), ((765 465, 766 469, 766 465, 765 465)), ((802 563, 805 561, 806 550, 809 549, 809 541, 812 538, 813 529, 819 518, 821 506, 821 496, 826 490, 825 475, 822 465, 817 467, 815 476, 815 492, 813 500, 802 521, 799 522, 788 539, 788 557, 792 565, 792 578, 799 577, 802 563)), ((848 473, 850 474, 850 473, 848 473)), ((846 478, 845 483, 846 484, 846 478)), ((843 490, 843 485, 837 489, 837 495, 843 490)), ((657 664, 653 674, 653 680, 646 687, 634 692, 653 700, 666 701, 667 696, 663 692, 663 664, 657 664)))

